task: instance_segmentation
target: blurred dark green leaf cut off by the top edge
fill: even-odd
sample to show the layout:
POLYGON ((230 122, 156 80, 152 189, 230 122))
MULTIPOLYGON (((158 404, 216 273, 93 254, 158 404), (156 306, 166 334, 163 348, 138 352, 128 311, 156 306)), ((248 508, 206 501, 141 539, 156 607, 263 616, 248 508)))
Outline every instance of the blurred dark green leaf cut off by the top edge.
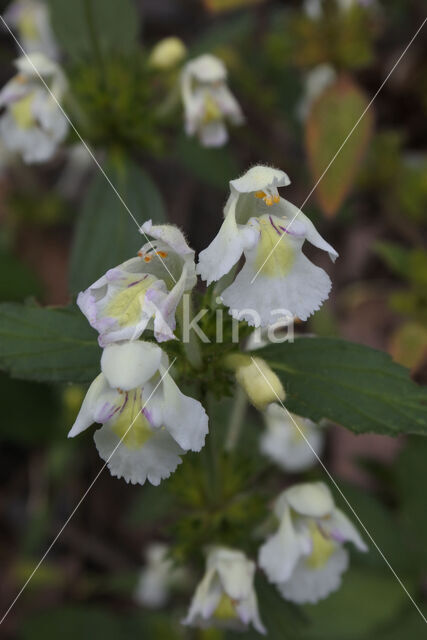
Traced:
POLYGON ((74 59, 129 53, 139 19, 132 0, 47 0, 61 48, 74 59))

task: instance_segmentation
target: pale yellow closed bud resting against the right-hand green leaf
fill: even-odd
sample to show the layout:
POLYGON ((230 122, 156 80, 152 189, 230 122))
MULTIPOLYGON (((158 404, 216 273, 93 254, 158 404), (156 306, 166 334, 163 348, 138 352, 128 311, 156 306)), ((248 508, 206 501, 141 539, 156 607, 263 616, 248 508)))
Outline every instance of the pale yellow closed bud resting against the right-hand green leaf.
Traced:
POLYGON ((226 366, 234 369, 237 382, 257 409, 285 399, 282 383, 262 358, 232 354, 226 358, 226 366))

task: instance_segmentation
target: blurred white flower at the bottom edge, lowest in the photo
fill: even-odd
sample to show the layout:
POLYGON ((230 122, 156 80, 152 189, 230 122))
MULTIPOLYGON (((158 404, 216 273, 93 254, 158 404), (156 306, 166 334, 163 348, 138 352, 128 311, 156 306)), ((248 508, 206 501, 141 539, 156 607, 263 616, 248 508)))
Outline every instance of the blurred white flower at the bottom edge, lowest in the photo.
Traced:
POLYGON ((208 553, 206 572, 199 583, 183 624, 246 629, 252 624, 266 633, 254 589, 255 563, 244 553, 215 547, 208 553))

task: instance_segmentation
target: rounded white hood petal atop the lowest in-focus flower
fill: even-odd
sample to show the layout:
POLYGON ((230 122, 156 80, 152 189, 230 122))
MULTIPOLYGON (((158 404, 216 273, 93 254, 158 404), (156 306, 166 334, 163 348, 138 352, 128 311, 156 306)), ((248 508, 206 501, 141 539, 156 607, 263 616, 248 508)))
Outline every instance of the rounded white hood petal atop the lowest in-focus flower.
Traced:
POLYGON ((101 370, 110 386, 129 391, 145 384, 159 370, 162 350, 150 342, 108 345, 101 357, 101 370))

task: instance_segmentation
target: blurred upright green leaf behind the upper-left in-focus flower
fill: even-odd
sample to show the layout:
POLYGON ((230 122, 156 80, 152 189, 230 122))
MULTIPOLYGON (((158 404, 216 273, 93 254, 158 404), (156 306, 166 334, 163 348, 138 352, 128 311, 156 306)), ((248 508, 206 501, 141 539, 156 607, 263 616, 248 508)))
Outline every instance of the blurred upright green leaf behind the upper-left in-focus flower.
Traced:
POLYGON ((130 161, 110 163, 106 173, 138 224, 105 177, 97 173, 75 231, 70 264, 73 293, 86 289, 108 269, 137 254, 146 242, 138 231, 139 224, 150 218, 155 223, 165 220, 159 192, 140 167, 130 161))

